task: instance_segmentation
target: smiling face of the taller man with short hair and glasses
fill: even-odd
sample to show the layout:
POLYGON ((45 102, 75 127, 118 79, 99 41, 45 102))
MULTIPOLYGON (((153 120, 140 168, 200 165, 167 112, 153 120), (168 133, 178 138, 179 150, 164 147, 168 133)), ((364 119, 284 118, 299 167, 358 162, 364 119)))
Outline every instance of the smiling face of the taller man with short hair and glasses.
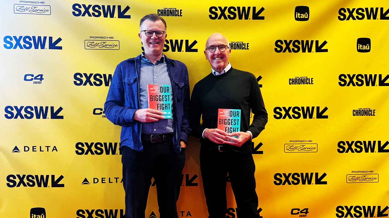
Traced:
MULTIPOLYGON (((165 25, 161 20, 158 21, 150 21, 145 20, 142 23, 141 30, 152 30, 152 31, 166 31, 165 25)), ((155 33, 152 34, 152 36, 146 36, 145 32, 139 33, 140 41, 143 43, 143 47, 145 49, 145 54, 150 55, 159 55, 162 54, 163 46, 165 44, 166 39, 166 33, 163 34, 162 37, 157 37, 155 33)))

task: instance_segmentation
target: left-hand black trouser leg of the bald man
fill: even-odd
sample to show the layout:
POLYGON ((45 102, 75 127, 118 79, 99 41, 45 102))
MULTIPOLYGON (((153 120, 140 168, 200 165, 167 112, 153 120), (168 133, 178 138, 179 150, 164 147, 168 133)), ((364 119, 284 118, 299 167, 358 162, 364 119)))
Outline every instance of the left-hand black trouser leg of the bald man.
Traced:
POLYGON ((224 153, 203 147, 200 151, 200 169, 209 218, 226 218, 227 169, 223 161, 224 153))

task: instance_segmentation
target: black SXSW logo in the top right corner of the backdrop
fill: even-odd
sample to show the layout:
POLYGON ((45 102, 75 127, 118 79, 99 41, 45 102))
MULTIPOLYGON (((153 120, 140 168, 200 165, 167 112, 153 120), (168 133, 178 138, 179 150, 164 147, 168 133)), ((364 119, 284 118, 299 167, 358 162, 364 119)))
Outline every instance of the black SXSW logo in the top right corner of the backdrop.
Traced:
MULTIPOLYGON (((350 19, 355 21, 355 20, 363 20, 363 19, 368 19, 368 20, 378 20, 377 15, 378 15, 378 7, 376 8, 340 8, 339 11, 339 16, 338 19, 340 21, 349 21, 350 19), (356 16, 354 16, 354 12, 356 16)), ((380 20, 389 20, 389 17, 387 17, 387 14, 389 13, 389 9, 384 10, 384 8, 380 8, 380 20)))

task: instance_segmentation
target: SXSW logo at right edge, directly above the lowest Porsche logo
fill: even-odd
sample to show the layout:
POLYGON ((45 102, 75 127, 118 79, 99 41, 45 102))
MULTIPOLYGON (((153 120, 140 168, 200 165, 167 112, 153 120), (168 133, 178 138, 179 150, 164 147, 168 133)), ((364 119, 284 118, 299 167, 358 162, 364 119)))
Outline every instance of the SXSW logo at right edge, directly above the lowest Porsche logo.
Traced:
POLYGON ((389 145, 389 142, 386 141, 384 144, 381 144, 381 141, 340 141, 338 142, 338 153, 389 153, 388 149, 385 149, 389 145), (375 145, 377 144, 378 148, 375 151, 375 145), (346 148, 347 147, 347 148, 346 148))

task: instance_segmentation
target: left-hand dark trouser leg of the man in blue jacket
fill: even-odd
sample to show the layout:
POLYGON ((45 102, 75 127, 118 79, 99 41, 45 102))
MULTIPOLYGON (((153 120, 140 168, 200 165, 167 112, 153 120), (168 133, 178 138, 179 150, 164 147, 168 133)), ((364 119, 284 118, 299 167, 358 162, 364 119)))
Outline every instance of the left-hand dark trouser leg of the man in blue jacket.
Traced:
POLYGON ((144 218, 151 178, 157 160, 157 147, 145 145, 139 152, 122 148, 123 187, 126 218, 144 218))

